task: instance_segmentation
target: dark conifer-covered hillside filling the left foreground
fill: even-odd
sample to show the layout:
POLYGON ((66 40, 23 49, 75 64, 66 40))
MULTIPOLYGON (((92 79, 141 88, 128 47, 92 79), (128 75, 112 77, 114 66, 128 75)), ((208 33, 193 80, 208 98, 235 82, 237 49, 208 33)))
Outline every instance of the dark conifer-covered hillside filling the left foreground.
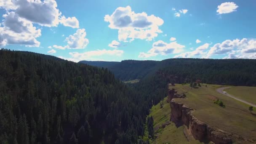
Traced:
POLYGON ((104 68, 0 50, 1 144, 137 143, 153 96, 104 68))

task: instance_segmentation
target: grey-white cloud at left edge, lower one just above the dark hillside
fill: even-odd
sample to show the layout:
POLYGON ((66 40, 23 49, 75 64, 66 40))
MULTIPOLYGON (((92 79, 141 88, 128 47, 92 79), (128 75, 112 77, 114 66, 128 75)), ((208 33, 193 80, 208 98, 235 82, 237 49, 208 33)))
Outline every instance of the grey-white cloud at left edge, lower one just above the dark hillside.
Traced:
POLYGON ((4 14, 3 18, 3 27, 0 27, 0 45, 40 46, 40 42, 36 38, 41 36, 41 29, 33 27, 32 22, 19 17, 13 11, 4 14))

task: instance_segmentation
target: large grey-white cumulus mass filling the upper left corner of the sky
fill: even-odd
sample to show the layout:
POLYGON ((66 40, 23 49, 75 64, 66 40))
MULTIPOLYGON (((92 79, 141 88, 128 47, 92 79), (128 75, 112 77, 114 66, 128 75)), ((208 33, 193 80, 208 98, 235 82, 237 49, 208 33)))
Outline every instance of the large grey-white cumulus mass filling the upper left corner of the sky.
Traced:
POLYGON ((61 23, 67 27, 79 27, 75 17, 61 16, 55 0, 1 0, 0 8, 7 11, 0 25, 0 45, 39 47, 36 38, 41 36, 41 30, 33 24, 57 27, 61 23))

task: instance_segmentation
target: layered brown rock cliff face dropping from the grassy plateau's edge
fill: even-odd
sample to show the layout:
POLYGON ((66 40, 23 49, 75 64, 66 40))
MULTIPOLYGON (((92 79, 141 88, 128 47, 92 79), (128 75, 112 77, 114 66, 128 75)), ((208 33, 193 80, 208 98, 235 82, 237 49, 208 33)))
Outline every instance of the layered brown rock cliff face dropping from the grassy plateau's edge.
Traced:
POLYGON ((212 141, 215 144, 232 144, 232 139, 244 141, 244 143, 252 142, 201 122, 192 115, 193 109, 185 106, 184 104, 175 102, 175 98, 181 97, 176 94, 174 89, 169 90, 168 101, 171 107, 171 121, 174 122, 177 127, 183 124, 186 125, 195 139, 199 141, 212 141))

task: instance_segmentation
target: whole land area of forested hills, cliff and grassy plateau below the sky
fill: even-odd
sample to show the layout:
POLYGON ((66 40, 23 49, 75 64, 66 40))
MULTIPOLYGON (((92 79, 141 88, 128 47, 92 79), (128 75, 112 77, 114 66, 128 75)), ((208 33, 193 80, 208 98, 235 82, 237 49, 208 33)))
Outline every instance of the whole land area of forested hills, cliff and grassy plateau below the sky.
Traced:
POLYGON ((251 66, 255 60, 168 59, 91 64, 97 65, 1 49, 0 141, 256 142, 255 107, 249 111, 250 105, 217 91, 230 87, 225 89, 227 93, 253 103, 256 77, 251 66))

